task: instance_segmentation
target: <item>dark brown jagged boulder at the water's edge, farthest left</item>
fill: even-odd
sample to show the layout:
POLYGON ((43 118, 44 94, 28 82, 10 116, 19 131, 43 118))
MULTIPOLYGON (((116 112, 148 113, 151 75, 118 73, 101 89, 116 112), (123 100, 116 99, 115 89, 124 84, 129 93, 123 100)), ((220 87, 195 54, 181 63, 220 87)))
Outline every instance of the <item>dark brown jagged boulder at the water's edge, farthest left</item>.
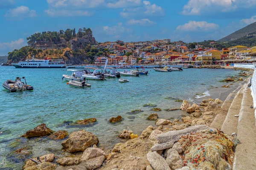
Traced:
POLYGON ((41 136, 48 136, 52 133, 54 133, 54 131, 49 129, 48 127, 46 127, 44 123, 42 123, 41 125, 38 125, 37 127, 35 127, 35 129, 27 131, 21 137, 25 137, 25 138, 41 137, 41 136))

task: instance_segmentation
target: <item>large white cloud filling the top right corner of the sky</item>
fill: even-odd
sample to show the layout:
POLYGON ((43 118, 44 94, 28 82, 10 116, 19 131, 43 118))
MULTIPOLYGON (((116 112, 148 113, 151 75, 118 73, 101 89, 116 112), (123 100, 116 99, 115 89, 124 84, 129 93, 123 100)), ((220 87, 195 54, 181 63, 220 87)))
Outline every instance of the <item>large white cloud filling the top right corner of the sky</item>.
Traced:
POLYGON ((256 5, 256 0, 189 0, 183 6, 182 14, 199 15, 214 11, 232 11, 236 8, 250 8, 256 5), (250 4, 250 5, 249 5, 250 4))

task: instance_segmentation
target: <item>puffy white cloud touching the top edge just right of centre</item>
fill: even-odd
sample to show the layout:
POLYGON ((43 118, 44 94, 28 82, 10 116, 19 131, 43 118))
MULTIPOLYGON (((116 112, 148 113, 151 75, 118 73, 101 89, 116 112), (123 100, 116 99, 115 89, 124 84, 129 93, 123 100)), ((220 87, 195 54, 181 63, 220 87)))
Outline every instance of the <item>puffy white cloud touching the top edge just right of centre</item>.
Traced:
POLYGON ((154 16, 160 17, 164 16, 164 10, 162 7, 157 6, 156 4, 151 5, 149 1, 143 1, 143 6, 137 8, 124 8, 120 13, 124 18, 130 17, 146 17, 154 16))

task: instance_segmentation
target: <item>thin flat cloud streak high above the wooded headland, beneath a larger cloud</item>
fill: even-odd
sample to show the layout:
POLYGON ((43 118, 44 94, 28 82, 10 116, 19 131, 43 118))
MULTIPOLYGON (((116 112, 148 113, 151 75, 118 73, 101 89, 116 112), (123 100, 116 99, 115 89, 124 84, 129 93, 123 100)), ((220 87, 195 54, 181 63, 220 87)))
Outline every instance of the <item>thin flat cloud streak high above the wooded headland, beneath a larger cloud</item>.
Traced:
POLYGON ((44 10, 44 12, 51 16, 51 17, 59 17, 59 16, 66 16, 66 17, 76 17, 76 16, 91 16, 92 14, 88 11, 71 11, 71 10, 52 10, 52 9, 47 9, 44 10))

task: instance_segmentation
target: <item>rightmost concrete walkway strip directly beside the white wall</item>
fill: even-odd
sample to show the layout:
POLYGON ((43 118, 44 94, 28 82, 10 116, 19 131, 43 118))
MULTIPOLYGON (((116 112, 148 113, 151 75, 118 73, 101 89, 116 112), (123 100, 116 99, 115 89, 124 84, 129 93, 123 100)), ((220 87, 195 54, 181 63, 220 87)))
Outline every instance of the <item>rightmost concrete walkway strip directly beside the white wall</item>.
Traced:
POLYGON ((245 88, 239 114, 237 135, 240 144, 236 146, 234 170, 256 170, 256 127, 253 97, 249 88, 245 88))

